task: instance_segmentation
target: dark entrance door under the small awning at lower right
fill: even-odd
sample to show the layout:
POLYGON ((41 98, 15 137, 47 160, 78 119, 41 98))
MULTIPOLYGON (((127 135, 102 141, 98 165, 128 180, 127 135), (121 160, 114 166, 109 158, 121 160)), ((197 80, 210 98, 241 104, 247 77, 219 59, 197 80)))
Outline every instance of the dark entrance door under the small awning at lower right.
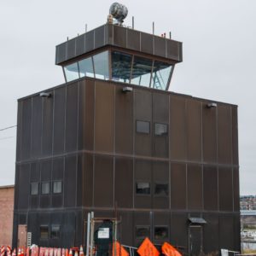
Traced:
POLYGON ((189 226, 189 253, 198 256, 202 252, 202 228, 201 226, 189 226))

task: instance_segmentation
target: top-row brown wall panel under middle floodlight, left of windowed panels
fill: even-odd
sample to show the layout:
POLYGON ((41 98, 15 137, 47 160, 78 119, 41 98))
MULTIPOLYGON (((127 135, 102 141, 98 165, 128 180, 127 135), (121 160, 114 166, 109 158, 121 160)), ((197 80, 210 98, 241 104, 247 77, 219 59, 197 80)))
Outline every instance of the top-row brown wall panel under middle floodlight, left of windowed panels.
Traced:
POLYGON ((125 94, 115 89, 115 151, 121 154, 133 152, 133 93, 125 94))

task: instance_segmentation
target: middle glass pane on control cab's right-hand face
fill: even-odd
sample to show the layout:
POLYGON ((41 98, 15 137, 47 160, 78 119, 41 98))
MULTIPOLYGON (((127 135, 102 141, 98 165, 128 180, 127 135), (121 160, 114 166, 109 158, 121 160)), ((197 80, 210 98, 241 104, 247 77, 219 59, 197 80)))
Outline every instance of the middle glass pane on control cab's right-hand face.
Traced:
POLYGON ((142 57, 134 57, 131 84, 137 84, 149 87, 151 70, 152 70, 152 60, 148 60, 142 57))

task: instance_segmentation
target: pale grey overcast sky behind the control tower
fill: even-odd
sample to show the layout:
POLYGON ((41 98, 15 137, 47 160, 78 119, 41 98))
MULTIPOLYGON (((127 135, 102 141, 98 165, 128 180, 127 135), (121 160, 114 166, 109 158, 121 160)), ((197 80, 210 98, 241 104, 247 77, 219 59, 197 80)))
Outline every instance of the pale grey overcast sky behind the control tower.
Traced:
MULTIPOLYGON (((101 26, 109 0, 0 1, 0 130, 16 125, 17 99, 64 83, 55 45, 101 26)), ((256 1, 122 0, 125 25, 172 32, 183 62, 170 90, 239 106, 241 195, 256 195, 256 1)), ((0 185, 15 183, 16 129, 0 131, 0 185)))

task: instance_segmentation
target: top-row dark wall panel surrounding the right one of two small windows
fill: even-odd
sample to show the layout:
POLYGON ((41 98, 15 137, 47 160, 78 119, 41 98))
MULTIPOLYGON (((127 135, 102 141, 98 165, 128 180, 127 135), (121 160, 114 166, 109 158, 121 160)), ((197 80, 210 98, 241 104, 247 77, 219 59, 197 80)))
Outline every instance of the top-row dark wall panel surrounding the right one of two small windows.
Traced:
MULTIPOLYGON (((164 124, 169 130, 169 96, 161 93, 153 94, 153 124, 164 124)), ((153 137, 153 156, 168 158, 169 156, 169 133, 164 136, 153 137)))

